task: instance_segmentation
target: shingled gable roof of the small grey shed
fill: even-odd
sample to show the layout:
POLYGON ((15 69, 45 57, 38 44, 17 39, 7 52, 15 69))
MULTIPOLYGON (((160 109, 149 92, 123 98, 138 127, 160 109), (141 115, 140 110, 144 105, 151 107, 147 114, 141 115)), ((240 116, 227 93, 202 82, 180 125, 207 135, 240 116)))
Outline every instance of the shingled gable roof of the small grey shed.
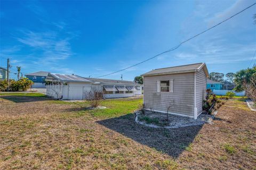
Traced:
POLYGON ((183 65, 183 66, 154 69, 149 72, 146 72, 145 74, 142 74, 141 76, 156 76, 156 75, 167 75, 167 74, 179 74, 179 73, 185 73, 185 72, 196 72, 202 68, 204 68, 205 74, 208 77, 209 76, 208 70, 205 66, 205 63, 202 63, 202 62, 183 65))

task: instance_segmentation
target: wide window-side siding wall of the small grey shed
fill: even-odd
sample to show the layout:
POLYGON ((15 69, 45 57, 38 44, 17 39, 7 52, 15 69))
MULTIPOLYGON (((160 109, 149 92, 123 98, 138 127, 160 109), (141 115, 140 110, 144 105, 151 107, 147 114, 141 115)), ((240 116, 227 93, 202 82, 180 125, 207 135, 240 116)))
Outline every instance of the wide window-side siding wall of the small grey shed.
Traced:
POLYGON ((170 112, 194 116, 194 72, 146 76, 144 77, 144 100, 147 109, 166 111, 169 103, 173 103, 170 112), (173 79, 173 93, 157 92, 157 80, 173 79))

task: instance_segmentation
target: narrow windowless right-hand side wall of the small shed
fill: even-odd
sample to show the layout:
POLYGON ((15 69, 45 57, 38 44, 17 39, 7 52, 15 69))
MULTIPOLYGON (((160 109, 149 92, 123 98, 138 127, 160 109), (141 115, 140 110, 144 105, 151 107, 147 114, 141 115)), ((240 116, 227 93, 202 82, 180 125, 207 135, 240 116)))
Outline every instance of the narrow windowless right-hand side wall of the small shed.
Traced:
POLYGON ((203 111, 203 100, 206 95, 206 75, 203 69, 196 72, 196 107, 197 115, 203 111))

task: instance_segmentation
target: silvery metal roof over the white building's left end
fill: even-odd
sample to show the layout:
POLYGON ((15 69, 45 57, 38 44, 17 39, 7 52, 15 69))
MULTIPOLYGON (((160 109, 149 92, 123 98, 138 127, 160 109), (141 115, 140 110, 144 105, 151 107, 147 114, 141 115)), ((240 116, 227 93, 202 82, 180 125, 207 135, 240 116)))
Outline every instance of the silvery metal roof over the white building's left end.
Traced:
POLYGON ((58 73, 49 73, 45 79, 46 81, 59 80, 60 82, 92 82, 89 79, 77 75, 65 75, 58 73))

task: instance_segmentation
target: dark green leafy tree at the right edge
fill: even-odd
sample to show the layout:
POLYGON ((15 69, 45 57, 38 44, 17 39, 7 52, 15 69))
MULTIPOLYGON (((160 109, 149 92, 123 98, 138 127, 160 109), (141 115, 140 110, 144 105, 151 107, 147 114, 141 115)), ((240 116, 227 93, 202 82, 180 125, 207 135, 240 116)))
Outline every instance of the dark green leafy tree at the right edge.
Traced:
POLYGON ((234 76, 234 82, 236 84, 234 90, 237 92, 245 90, 245 85, 251 82, 250 79, 252 77, 256 77, 256 67, 237 71, 234 76))

